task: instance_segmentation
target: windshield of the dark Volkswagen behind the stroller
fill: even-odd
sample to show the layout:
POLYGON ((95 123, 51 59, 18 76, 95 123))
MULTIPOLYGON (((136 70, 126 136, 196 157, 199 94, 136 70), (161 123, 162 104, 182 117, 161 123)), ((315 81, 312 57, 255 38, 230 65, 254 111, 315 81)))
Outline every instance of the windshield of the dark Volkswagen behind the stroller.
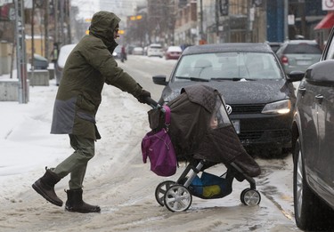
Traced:
POLYGON ((272 53, 216 52, 184 55, 179 61, 174 81, 241 81, 283 78, 272 53))

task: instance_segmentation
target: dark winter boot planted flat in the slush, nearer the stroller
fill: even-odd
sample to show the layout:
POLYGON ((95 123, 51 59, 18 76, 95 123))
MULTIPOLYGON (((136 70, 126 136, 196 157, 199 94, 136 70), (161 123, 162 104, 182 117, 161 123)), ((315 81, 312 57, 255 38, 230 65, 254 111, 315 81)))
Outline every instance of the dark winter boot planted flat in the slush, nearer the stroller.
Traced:
POLYGON ((65 191, 68 195, 65 209, 69 212, 101 212, 101 208, 98 205, 86 204, 82 199, 82 189, 72 189, 65 191))

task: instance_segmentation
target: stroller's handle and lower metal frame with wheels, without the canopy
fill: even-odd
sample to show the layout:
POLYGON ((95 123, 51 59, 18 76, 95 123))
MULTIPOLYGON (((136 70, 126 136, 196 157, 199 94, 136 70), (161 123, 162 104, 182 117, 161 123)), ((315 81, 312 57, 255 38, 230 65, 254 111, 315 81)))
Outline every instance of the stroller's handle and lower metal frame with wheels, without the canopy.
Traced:
MULTIPOLYGON (((164 108, 162 108, 156 101, 147 99, 147 103, 151 105, 153 109, 159 109, 164 113, 164 108)), ((192 185, 193 180, 198 178, 198 174, 209 167, 215 165, 210 161, 202 158, 195 158, 187 164, 181 176, 176 180, 165 180, 159 183, 155 190, 155 197, 159 205, 166 206, 171 212, 183 212, 189 209, 192 203, 192 196, 197 196, 202 199, 213 199, 213 198, 223 198, 232 193, 232 181, 234 179, 247 180, 249 183, 249 188, 245 188, 240 193, 240 201, 242 204, 253 206, 257 205, 261 201, 260 193, 257 191, 256 181, 244 172, 238 164, 231 162, 230 164, 225 164, 226 172, 220 177, 224 183, 224 188, 216 196, 203 196, 196 192, 196 186, 192 185)))

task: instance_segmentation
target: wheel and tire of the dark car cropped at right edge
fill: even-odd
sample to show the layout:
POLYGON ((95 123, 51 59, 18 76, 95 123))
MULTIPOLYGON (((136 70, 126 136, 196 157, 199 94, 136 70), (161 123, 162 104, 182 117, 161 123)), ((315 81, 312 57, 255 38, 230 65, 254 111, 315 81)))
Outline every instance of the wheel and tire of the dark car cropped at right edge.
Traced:
POLYGON ((305 180, 305 166, 300 140, 294 151, 293 195, 295 220, 298 228, 318 231, 334 228, 333 211, 309 188, 305 180))

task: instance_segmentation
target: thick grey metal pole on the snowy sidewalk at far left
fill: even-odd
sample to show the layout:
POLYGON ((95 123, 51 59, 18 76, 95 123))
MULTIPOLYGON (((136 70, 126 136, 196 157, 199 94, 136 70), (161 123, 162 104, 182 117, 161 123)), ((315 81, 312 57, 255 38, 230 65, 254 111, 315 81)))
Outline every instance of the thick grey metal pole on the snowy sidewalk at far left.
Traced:
POLYGON ((28 102, 27 62, 24 33, 24 0, 15 2, 15 39, 20 103, 28 102))

